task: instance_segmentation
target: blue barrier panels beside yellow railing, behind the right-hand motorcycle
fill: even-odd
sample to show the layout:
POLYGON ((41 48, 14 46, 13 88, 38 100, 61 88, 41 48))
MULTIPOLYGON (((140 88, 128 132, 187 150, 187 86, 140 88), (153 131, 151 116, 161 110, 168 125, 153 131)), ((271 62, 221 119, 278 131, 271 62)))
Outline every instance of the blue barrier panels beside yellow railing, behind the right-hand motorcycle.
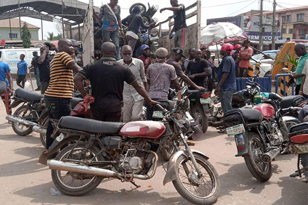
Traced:
MULTIPOLYGON (((253 80, 252 77, 238 77, 236 78, 236 90, 244 90, 246 89, 246 81, 247 79, 253 80)), ((272 90, 272 76, 266 75, 264 77, 257 77, 256 82, 261 86, 262 92, 271 92, 272 90)))

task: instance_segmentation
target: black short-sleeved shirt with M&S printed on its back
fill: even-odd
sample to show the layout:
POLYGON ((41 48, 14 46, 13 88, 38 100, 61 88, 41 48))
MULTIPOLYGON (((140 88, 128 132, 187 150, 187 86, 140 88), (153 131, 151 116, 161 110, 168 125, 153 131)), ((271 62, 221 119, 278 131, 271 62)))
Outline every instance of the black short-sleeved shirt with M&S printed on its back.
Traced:
POLYGON ((129 85, 136 81, 136 77, 127 66, 109 57, 88 64, 78 74, 90 79, 91 95, 95 97, 94 103, 91 104, 91 112, 99 113, 104 110, 108 110, 108 113, 121 111, 124 81, 129 85))

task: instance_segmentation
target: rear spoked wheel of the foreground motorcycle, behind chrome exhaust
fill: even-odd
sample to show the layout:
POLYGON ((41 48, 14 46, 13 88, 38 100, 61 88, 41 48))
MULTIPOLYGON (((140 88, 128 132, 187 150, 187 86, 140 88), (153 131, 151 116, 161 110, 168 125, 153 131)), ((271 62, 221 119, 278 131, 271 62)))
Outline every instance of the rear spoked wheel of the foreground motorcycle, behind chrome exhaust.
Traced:
MULTIPOLYGON (((67 146, 55 157, 55 160, 64 161, 70 151, 73 149, 74 144, 67 146)), ((72 153, 70 154, 70 159, 78 160, 89 160, 93 158, 95 154, 99 152, 99 148, 90 147, 86 148, 86 144, 82 143, 77 145, 72 153), (83 151, 86 151, 86 154, 80 159, 80 155, 83 151)), ((102 155, 98 155, 93 158, 94 161, 103 161, 102 155)), ((76 163, 77 164, 77 163, 76 163)), ((61 170, 51 170, 51 177, 54 185, 61 192, 69 196, 81 196, 84 195, 93 189, 95 189, 101 181, 104 179, 102 176, 95 176, 89 174, 67 172, 61 170)))

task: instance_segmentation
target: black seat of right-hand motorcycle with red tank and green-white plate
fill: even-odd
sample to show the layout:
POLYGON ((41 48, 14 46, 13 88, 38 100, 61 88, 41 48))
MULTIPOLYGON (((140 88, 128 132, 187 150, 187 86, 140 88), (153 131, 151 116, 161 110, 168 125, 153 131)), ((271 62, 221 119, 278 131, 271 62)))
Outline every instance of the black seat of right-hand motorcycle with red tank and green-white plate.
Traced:
POLYGON ((229 110, 225 113, 225 116, 231 115, 242 115, 245 120, 262 120, 263 115, 259 110, 256 109, 246 109, 246 108, 236 108, 229 110))

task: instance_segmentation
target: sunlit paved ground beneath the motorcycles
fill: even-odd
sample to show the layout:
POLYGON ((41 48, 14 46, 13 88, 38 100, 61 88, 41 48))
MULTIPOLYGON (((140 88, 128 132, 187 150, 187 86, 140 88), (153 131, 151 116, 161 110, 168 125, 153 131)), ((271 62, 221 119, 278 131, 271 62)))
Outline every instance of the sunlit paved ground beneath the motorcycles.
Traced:
MULTIPOLYGON (((130 183, 106 179, 82 197, 51 196, 55 188, 48 167, 37 163, 44 151, 38 134, 16 135, 6 123, 5 108, 0 103, 0 201, 1 204, 190 204, 168 183, 162 184, 160 166, 150 180, 136 180, 142 187, 132 190, 130 183), (150 188, 148 186, 151 186, 150 188)), ((209 128, 194 149, 204 152, 220 175, 222 192, 217 205, 226 204, 307 204, 307 184, 288 175, 296 169, 295 155, 281 155, 272 163, 273 176, 259 182, 248 172, 241 157, 235 157, 232 137, 209 128)))

